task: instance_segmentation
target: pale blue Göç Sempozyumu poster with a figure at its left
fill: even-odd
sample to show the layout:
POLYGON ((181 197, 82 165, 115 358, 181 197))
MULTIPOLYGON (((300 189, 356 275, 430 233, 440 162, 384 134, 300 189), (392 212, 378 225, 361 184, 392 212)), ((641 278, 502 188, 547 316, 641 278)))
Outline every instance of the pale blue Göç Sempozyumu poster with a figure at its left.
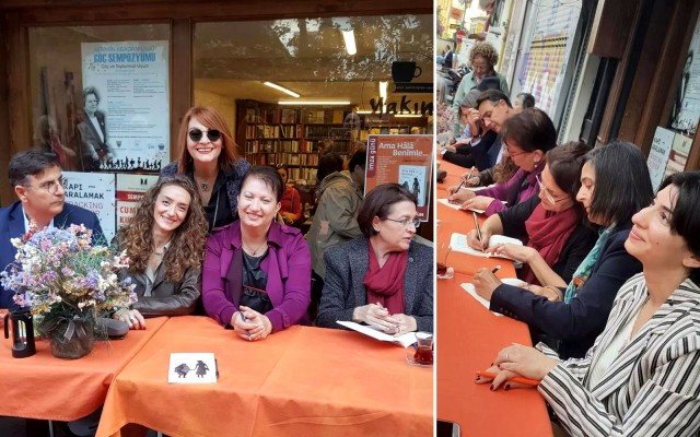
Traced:
POLYGON ((153 172, 170 155, 168 42, 81 44, 86 172, 153 172))

